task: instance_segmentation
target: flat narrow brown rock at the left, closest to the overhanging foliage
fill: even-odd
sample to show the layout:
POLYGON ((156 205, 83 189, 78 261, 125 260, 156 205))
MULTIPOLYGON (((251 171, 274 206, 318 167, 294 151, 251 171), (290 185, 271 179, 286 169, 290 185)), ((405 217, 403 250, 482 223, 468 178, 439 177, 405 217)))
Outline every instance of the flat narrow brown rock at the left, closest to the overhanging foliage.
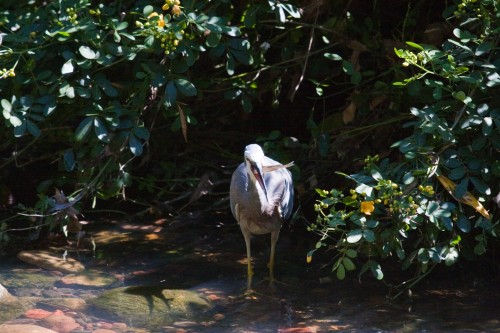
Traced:
POLYGON ((17 258, 28 264, 64 273, 78 273, 85 269, 83 264, 73 258, 62 258, 48 251, 21 251, 17 258))

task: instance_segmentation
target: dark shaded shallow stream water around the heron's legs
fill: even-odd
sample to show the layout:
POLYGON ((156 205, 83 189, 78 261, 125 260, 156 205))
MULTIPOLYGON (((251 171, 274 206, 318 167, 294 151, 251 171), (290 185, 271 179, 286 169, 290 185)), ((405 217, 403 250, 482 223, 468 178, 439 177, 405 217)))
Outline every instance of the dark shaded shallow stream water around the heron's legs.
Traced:
MULTIPOLYGON (((118 286, 130 287, 132 294, 143 293, 140 286, 153 286, 145 297, 150 307, 157 299, 170 307, 171 299, 162 293, 165 288, 196 291, 213 304, 199 317, 143 331, 128 323, 127 329, 116 332, 500 332, 498 275, 474 286, 444 273, 418 285, 411 296, 389 302, 387 287, 369 278, 362 283, 357 278, 318 279, 319 274, 328 275, 328 268, 318 273, 308 266, 308 249, 297 246, 296 235, 284 230, 276 256, 279 283, 271 288, 266 280, 269 238, 255 237, 254 292, 245 294, 244 241, 226 215, 206 220, 106 220, 87 227, 86 242, 71 255, 87 270, 116 277, 115 284, 62 284, 61 274, 33 269, 13 257, 0 262, 0 284, 15 296, 36 297, 39 308, 68 295, 91 300, 118 286)), ((91 310, 76 311, 87 323, 78 332, 92 332, 91 322, 118 320, 91 310)))

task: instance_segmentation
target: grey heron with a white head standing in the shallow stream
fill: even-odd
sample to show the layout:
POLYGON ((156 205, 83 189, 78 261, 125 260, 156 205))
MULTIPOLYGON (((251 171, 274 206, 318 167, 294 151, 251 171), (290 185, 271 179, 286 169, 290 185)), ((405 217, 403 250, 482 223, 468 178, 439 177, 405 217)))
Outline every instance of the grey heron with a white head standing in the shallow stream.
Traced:
POLYGON ((283 221, 288 219, 293 208, 293 183, 290 172, 281 163, 264 156, 262 148, 252 144, 245 149, 245 162, 234 171, 231 178, 230 206, 238 221, 247 245, 249 286, 252 274, 250 266, 250 237, 271 233, 271 258, 274 265, 274 250, 283 221), (265 171, 271 166, 272 171, 265 171), (259 177, 261 181, 259 182, 259 177), (263 186, 264 188, 263 188, 263 186))

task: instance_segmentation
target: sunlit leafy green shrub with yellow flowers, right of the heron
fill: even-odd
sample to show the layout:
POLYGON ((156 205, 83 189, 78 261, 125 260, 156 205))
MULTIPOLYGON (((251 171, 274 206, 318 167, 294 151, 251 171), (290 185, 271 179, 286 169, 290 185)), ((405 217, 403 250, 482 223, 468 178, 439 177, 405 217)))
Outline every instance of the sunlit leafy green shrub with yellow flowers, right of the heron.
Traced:
POLYGON ((416 265, 418 281, 460 254, 484 254, 499 232, 500 5, 464 0, 444 15, 456 27, 442 48, 395 49, 413 71, 394 83, 414 103, 413 134, 392 145, 401 161, 368 156, 360 172, 339 173, 355 183, 348 192, 317 190, 309 229, 321 238, 308 260, 333 247, 339 279, 361 262, 360 274, 383 279, 380 260, 393 256, 402 269, 416 265))

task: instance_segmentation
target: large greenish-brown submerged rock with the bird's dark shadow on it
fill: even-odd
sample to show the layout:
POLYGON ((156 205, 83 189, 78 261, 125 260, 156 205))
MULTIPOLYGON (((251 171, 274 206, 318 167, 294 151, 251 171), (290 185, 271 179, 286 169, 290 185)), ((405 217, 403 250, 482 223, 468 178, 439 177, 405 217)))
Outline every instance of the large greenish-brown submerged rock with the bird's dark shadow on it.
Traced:
POLYGON ((157 286, 112 289, 91 303, 95 310, 107 312, 136 327, 158 327, 198 318, 213 307, 210 300, 194 291, 157 286))

